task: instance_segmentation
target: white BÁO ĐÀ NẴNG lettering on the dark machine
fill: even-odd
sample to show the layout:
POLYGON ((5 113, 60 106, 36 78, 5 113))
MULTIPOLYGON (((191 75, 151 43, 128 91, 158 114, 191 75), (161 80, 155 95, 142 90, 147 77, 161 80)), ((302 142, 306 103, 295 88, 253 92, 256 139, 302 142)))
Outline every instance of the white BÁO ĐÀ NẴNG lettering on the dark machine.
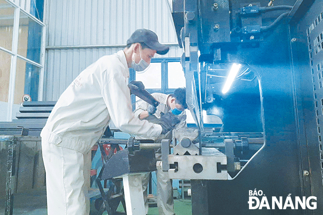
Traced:
POLYGON ((287 196, 272 196, 268 197, 263 193, 263 191, 249 191, 249 209, 316 209, 316 197, 309 196, 306 198, 305 196, 291 196, 288 194, 287 196))

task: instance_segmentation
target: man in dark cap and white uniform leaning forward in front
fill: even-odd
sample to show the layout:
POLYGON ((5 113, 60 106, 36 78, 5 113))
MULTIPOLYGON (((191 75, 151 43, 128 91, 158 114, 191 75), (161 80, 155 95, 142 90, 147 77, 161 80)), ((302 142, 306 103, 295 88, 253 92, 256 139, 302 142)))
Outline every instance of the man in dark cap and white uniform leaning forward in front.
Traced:
POLYGON ((126 48, 98 59, 59 97, 41 132, 48 215, 89 215, 91 148, 110 120, 121 131, 149 138, 179 122, 171 115, 159 124, 135 117, 127 86, 128 68, 143 71, 155 53, 168 50, 153 31, 138 29, 126 48))

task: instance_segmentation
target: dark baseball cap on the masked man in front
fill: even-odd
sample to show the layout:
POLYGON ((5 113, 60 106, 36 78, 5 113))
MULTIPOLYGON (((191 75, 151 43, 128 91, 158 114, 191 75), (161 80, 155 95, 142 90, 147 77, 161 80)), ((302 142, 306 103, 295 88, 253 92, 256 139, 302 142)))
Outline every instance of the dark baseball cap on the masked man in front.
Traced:
POLYGON ((162 45, 158 42, 157 34, 148 29, 138 29, 127 40, 127 45, 133 43, 144 43, 150 49, 156 50, 157 54, 166 54, 169 46, 162 45))

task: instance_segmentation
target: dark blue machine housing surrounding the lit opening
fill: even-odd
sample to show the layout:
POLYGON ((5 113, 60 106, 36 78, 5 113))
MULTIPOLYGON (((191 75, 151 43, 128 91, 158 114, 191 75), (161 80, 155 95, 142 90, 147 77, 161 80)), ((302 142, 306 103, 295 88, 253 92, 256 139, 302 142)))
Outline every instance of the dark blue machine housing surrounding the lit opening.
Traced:
MULTIPOLYGON (((319 30, 323 29, 323 22, 320 22, 323 17, 318 18, 323 11, 322 3, 318 0, 276 0, 276 7, 269 8, 269 0, 169 2, 179 45, 185 49, 182 66, 186 102, 200 131, 199 155, 208 133, 202 111, 216 105, 213 99, 207 99, 208 90, 213 95, 215 92, 207 86, 206 65, 235 62, 248 65, 259 84, 261 114, 258 119, 263 147, 233 180, 191 180, 192 214, 321 215, 323 83, 319 73, 321 78, 323 75, 319 66, 323 52, 319 52, 318 47, 323 38, 312 43, 323 31, 319 30), (261 195, 255 196, 254 191, 261 195), (259 201, 266 196, 270 208, 259 209, 258 205, 252 210, 248 204, 251 196, 259 201), (295 210, 293 205, 285 210, 277 206, 273 209, 272 197, 280 196, 284 201, 294 199, 294 205, 297 197, 309 199, 314 196, 316 207, 295 210)), ((247 94, 248 90, 241 89, 242 95, 244 92, 247 94)), ((237 103, 248 103, 243 96, 235 96, 235 99, 237 103)), ((224 110, 228 109, 239 111, 237 107, 224 107, 224 110)), ((233 119, 224 119, 225 132, 259 132, 253 128, 257 122, 243 115, 234 117, 236 121, 244 122, 243 128, 238 130, 240 127, 232 123, 233 119)))

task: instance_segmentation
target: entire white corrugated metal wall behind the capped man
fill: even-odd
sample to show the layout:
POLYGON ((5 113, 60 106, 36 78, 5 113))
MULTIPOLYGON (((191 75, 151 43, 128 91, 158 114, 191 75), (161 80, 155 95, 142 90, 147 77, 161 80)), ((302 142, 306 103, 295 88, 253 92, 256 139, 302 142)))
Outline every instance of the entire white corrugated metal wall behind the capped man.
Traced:
POLYGON ((171 45, 162 57, 183 52, 166 0, 47 0, 45 23, 44 100, 57 100, 82 70, 123 49, 138 28, 153 30, 161 43, 171 45))

